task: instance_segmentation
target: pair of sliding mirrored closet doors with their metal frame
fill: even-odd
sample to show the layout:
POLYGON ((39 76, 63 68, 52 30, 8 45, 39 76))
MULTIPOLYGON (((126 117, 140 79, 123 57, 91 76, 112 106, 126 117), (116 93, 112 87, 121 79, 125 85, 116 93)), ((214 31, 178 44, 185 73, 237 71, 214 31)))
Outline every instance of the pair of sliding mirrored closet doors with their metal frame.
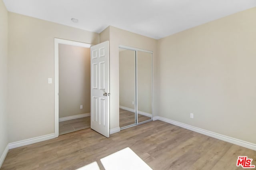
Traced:
POLYGON ((152 52, 119 47, 119 124, 127 128, 152 120, 152 52))

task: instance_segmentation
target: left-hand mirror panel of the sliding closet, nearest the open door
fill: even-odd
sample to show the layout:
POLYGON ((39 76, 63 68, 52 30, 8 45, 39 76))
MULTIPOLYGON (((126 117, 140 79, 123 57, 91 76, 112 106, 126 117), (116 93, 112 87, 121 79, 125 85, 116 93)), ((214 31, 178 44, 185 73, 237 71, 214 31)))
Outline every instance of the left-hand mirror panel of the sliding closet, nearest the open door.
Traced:
POLYGON ((119 126, 136 123, 135 51, 119 48, 119 126))

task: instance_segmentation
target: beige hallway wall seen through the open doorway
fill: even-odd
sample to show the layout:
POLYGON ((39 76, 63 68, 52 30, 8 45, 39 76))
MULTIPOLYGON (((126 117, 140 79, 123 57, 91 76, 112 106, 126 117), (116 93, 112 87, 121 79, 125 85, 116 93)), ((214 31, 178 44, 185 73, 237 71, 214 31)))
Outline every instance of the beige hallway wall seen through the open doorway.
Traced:
POLYGON ((59 44, 59 118, 90 113, 90 77, 90 48, 59 44))

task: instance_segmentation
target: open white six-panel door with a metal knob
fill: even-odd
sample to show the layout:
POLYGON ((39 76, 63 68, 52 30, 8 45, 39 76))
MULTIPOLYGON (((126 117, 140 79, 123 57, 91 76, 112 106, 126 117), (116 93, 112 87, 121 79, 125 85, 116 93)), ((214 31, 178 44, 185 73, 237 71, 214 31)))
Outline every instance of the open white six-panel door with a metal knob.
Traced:
POLYGON ((109 42, 91 47, 91 128, 109 137, 109 42))

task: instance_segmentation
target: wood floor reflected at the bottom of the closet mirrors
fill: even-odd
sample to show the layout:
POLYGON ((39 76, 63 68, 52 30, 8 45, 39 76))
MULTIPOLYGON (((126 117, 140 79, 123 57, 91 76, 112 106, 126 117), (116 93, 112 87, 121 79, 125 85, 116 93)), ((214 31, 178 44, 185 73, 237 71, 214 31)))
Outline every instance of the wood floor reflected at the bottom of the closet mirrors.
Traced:
MULTIPOLYGON (((138 122, 148 121, 150 117, 138 114, 138 122)), ((135 114, 134 112, 126 111, 119 108, 119 126, 125 127, 135 123, 135 114)))

